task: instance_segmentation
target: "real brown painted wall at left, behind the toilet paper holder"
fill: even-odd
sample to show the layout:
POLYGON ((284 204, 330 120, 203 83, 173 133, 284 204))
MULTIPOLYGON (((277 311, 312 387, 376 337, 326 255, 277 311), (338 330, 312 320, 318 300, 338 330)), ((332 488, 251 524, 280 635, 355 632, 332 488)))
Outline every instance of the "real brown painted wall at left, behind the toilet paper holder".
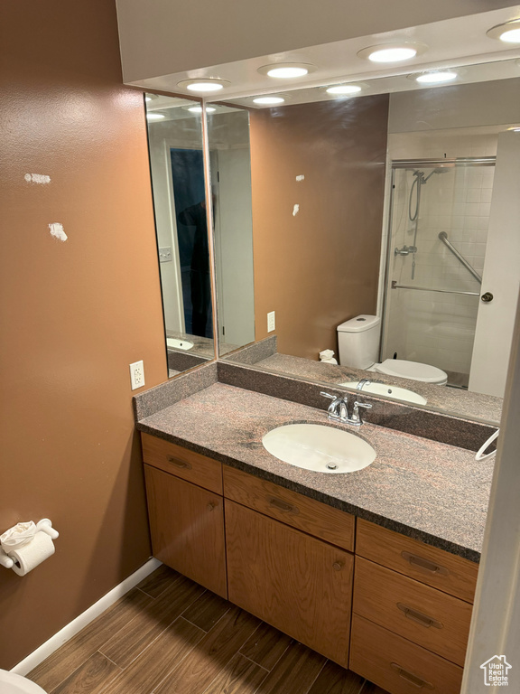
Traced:
POLYGON ((149 558, 128 364, 144 359, 147 387, 167 376, 143 99, 121 86, 115 4, 17 0, 1 25, 0 532, 60 531, 28 576, 0 567, 11 668, 149 558))

